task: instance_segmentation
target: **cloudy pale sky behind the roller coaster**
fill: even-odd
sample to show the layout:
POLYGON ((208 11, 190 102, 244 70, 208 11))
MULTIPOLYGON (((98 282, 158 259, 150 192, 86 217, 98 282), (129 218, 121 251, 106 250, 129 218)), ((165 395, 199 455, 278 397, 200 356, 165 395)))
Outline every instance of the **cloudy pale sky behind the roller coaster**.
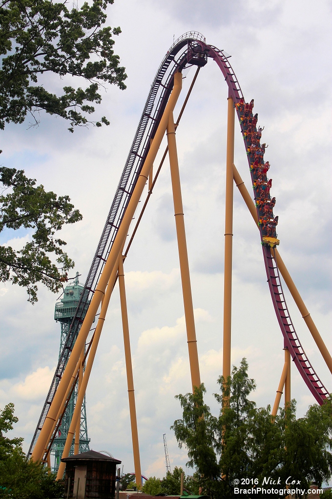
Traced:
MULTIPOLYGON (((47 190, 68 194, 83 221, 62 238, 82 280, 90 267, 155 72, 173 43, 189 30, 231 54, 246 100, 255 99, 269 147, 280 253, 327 346, 331 330, 331 3, 327 0, 115 0, 108 23, 120 26, 115 52, 127 89, 103 94, 102 129, 74 135, 60 118, 41 114, 40 126, 8 125, 1 132, 1 164, 24 169, 47 190), (329 48, 330 47, 330 48, 329 48)), ((194 69, 189 71, 184 99, 194 69)), ((58 91, 63 81, 49 77, 58 91)), ((213 393, 222 369, 225 126, 227 88, 218 66, 200 72, 177 132, 185 223, 196 314, 201 378, 213 393)), ((175 117, 177 116, 175 112, 175 117)), ((163 150, 163 147, 161 147, 163 150)), ((250 189, 236 124, 235 165, 250 189)), ((252 398, 273 404, 283 366, 283 340, 268 292, 258 231, 234 194, 232 363, 245 356, 257 382, 252 398)), ((28 233, 4 231, 1 244, 21 247, 28 233)), ((163 433, 171 466, 183 466, 170 426, 181 417, 174 396, 191 389, 169 164, 165 161, 129 256, 125 279, 142 472, 165 475, 163 433)), ((288 294, 287 294, 288 297, 288 294)), ((57 362, 57 296, 41 288, 32 306, 23 289, 0 284, 0 407, 14 402, 14 434, 27 450, 57 362)), ((291 315, 317 373, 332 390, 331 374, 296 306, 291 315)), ((87 390, 91 448, 111 452, 133 471, 118 288, 87 390)), ((292 397, 302 416, 314 398, 292 366, 292 397)))

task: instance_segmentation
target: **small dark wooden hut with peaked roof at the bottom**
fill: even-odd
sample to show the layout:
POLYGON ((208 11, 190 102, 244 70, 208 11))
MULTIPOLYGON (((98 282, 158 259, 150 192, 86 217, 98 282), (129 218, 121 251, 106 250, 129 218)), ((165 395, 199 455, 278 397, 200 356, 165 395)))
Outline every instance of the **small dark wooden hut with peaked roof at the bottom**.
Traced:
POLYGON ((89 451, 61 460, 66 463, 65 497, 114 499, 116 465, 121 461, 89 451))

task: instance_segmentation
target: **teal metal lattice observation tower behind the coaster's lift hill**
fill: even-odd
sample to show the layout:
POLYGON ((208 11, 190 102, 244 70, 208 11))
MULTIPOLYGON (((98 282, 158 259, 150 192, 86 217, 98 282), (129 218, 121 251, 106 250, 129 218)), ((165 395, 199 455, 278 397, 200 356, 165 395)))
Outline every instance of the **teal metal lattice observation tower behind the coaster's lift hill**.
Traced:
MULTIPOLYGON (((56 321, 59 321, 61 324, 59 358, 62 354, 63 348, 65 347, 66 339, 69 333, 69 327, 73 320, 75 310, 78 307, 83 289, 84 289, 83 284, 80 284, 79 282, 79 272, 76 272, 76 278, 74 284, 69 284, 68 286, 65 287, 64 297, 55 304, 54 319, 56 321)), ((86 310, 88 309, 88 305, 89 302, 85 307, 86 310)), ((54 468, 53 468, 54 471, 57 471, 59 468, 62 452, 65 447, 68 430, 75 409, 76 399, 77 399, 77 386, 75 387, 75 390, 73 391, 73 394, 70 398, 66 412, 62 418, 61 426, 59 427, 57 436, 55 437, 52 445, 51 456, 54 456, 54 468)), ((90 451, 89 442, 90 439, 88 438, 87 414, 86 414, 85 396, 84 396, 81 409, 81 429, 80 429, 80 447, 79 447, 80 453, 90 451)), ((74 442, 70 449, 69 455, 71 456, 73 454, 74 454, 74 442)))

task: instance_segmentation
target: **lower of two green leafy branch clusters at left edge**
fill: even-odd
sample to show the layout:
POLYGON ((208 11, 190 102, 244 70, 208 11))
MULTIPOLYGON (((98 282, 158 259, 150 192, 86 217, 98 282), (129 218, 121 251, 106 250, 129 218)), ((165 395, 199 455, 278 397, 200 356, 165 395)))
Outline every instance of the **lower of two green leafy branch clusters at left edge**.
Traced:
POLYGON ((62 249, 66 242, 55 238, 55 233, 64 224, 82 220, 82 215, 68 196, 57 197, 42 185, 36 187, 36 180, 25 177, 22 170, 1 167, 0 184, 0 232, 5 228, 33 230, 31 241, 22 250, 0 246, 0 281, 26 287, 28 301, 35 303, 37 282, 57 292, 67 279, 66 271, 74 266, 62 249))

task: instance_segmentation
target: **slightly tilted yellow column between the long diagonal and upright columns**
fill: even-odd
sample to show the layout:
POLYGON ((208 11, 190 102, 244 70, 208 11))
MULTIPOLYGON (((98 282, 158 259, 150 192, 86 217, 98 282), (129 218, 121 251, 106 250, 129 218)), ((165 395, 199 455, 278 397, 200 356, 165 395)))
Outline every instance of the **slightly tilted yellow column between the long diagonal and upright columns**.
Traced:
POLYGON ((176 149, 175 127, 174 127, 174 119, 172 112, 169 115, 169 122, 167 126, 167 143, 168 143, 169 163, 171 168, 176 235, 178 240, 183 303, 184 303, 185 318, 186 318, 191 382, 194 393, 195 387, 199 387, 201 385, 201 378, 200 378, 200 367, 198 362, 197 339, 195 331, 193 298, 192 298, 191 284, 190 284, 190 272, 189 272, 188 252, 187 252, 187 243, 186 243, 185 221, 184 221, 183 206, 182 206, 178 154, 176 149))

